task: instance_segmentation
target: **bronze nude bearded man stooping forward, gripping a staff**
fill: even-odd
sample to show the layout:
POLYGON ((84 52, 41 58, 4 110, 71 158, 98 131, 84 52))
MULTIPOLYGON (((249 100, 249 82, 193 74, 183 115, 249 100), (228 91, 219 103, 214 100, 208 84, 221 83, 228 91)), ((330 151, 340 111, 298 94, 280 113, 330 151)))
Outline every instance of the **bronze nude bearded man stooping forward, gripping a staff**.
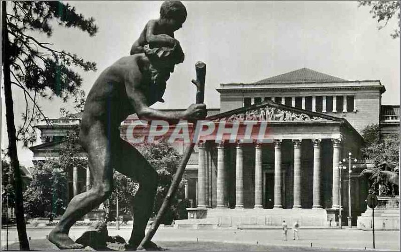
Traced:
MULTIPOLYGON (((205 104, 192 104, 184 112, 150 108, 164 94, 166 81, 175 64, 183 61, 179 44, 173 48, 144 47, 144 53, 123 57, 106 68, 95 81, 86 99, 80 125, 80 142, 88 153, 93 186, 69 203, 49 240, 60 249, 80 249, 69 236, 71 226, 105 201, 113 188, 113 169, 139 183, 133 211, 134 226, 127 249, 135 250, 143 237, 152 212, 158 174, 146 159, 120 138, 118 127, 130 114, 143 120, 200 120, 206 117, 205 104)), ((158 249, 149 242, 145 249, 158 249)))

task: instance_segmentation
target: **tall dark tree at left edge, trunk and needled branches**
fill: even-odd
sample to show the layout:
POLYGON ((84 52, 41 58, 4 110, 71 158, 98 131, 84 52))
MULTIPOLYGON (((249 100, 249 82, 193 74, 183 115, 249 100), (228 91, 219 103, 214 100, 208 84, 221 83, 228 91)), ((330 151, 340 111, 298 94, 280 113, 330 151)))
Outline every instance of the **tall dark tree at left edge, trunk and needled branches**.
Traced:
POLYGON ((97 32, 94 19, 86 19, 77 14, 69 4, 58 1, 2 1, 2 62, 8 155, 15 176, 16 220, 21 250, 29 250, 29 243, 24 222, 16 141, 22 140, 25 145, 33 142, 35 122, 46 119, 38 105, 39 97, 51 99, 58 96, 67 101, 69 96, 79 94, 82 84, 82 78, 74 68, 96 70, 95 63, 84 61, 70 52, 56 50, 51 43, 35 38, 37 33, 51 36, 53 21, 62 27, 78 28, 90 36, 97 32), (12 85, 22 90, 26 103, 22 118, 24 123, 18 130, 14 123, 12 85))

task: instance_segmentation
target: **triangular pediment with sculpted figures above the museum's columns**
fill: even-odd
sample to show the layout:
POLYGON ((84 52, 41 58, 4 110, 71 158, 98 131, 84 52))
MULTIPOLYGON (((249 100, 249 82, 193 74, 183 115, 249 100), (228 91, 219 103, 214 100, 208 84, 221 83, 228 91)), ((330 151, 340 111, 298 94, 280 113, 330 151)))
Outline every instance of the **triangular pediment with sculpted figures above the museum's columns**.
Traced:
POLYGON ((268 122, 305 122, 305 121, 338 121, 344 119, 328 116, 319 112, 299 109, 295 107, 265 101, 249 107, 242 107, 206 118, 211 121, 268 121, 268 122))

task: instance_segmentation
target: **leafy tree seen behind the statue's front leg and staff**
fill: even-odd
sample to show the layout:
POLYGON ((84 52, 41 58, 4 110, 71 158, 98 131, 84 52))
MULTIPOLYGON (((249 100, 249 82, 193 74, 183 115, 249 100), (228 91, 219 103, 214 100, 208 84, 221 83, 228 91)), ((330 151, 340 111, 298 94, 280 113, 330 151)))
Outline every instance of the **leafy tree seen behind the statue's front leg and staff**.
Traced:
MULTIPOLYGON (((135 147, 159 174, 159 185, 157 187, 152 213, 152 215, 155 216, 163 203, 164 197, 167 195, 171 181, 177 170, 179 161, 181 160, 181 155, 166 142, 141 143, 135 145, 135 147)), ((131 214, 131 216, 133 216, 132 206, 134 202, 132 199, 139 188, 138 184, 118 172, 114 173, 114 181, 115 189, 110 198, 113 207, 116 205, 118 193, 120 209, 126 214, 131 214)), ((180 190, 174 198, 162 223, 169 224, 173 219, 185 218, 186 209, 184 208, 187 207, 188 202, 178 202, 178 199, 184 198, 184 182, 185 181, 181 182, 180 190)))

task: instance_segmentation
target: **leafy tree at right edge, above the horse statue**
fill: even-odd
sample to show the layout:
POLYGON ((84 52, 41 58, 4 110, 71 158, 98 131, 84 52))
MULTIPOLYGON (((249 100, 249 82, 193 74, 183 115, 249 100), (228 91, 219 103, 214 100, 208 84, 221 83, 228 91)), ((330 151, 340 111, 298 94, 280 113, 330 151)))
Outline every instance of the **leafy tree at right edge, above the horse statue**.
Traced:
POLYGON ((368 125, 362 130, 365 144, 361 149, 364 158, 378 164, 387 161, 392 165, 399 165, 399 134, 392 133, 386 138, 380 136, 380 126, 368 125))

